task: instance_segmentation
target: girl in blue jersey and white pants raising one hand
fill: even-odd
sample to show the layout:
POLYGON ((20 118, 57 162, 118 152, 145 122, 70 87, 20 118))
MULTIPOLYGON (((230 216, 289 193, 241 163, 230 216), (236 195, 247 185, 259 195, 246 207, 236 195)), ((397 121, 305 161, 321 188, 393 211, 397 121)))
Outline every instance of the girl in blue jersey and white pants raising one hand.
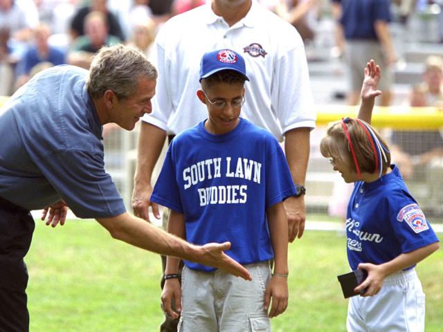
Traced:
POLYGON ((368 277, 354 288, 347 331, 424 331, 424 293, 415 265, 440 247, 386 141, 370 126, 381 71, 365 68, 358 118, 329 124, 320 151, 354 190, 347 205, 347 259, 368 277), (377 295, 377 296, 374 296, 377 295))

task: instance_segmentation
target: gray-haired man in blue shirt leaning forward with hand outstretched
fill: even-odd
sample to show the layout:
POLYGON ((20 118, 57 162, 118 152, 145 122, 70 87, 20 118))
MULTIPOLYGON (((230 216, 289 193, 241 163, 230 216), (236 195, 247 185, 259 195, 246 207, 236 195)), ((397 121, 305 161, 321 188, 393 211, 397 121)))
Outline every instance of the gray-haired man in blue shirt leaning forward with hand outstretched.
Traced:
POLYGON ((24 256, 35 227, 30 210, 64 223, 67 207, 111 236, 250 279, 226 256, 230 243, 194 246, 126 212, 103 161, 102 125, 132 130, 152 110, 156 69, 135 48, 102 48, 88 71, 55 66, 33 77, 0 116, 0 331, 28 331, 24 256))

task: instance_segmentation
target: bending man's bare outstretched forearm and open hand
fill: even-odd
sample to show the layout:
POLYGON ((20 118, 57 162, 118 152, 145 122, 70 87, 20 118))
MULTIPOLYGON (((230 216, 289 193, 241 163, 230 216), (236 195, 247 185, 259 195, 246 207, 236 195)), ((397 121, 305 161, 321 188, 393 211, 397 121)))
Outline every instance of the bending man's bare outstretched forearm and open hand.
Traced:
POLYGON ((230 248, 229 242, 195 246, 127 212, 111 218, 100 218, 97 221, 114 239, 132 246, 213 266, 237 277, 251 280, 248 270, 224 253, 230 248))

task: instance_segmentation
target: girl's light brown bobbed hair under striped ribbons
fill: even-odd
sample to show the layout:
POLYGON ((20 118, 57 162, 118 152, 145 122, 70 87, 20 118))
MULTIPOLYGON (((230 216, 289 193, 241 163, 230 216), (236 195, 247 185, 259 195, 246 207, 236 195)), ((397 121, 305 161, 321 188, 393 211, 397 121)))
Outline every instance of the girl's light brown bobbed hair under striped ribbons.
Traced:
POLYGON ((354 118, 345 118, 340 121, 332 122, 326 129, 325 137, 320 142, 320 152, 325 158, 334 158, 341 160, 350 168, 357 172, 356 165, 352 154, 354 151, 355 158, 359 165, 360 172, 373 174, 379 169, 380 161, 377 165, 376 160, 381 159, 381 173, 385 173, 390 165, 390 151, 386 141, 380 134, 363 120, 354 118), (360 122, 360 123, 359 123, 360 122), (347 138, 346 131, 350 141, 347 138), (372 134, 381 143, 381 152, 386 158, 381 158, 377 153, 377 142, 372 134), (374 153, 375 151, 375 153, 374 153))

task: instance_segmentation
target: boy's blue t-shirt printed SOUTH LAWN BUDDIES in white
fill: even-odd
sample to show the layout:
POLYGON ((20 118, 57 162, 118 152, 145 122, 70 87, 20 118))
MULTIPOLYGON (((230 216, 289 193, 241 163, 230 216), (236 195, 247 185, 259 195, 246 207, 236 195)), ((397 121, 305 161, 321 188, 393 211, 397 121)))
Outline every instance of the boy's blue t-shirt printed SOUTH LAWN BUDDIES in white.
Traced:
POLYGON ((251 264, 273 257, 266 210, 293 194, 296 189, 277 140, 240 119, 223 135, 208 133, 200 122, 176 136, 151 201, 184 214, 190 243, 230 241, 226 254, 251 264))

